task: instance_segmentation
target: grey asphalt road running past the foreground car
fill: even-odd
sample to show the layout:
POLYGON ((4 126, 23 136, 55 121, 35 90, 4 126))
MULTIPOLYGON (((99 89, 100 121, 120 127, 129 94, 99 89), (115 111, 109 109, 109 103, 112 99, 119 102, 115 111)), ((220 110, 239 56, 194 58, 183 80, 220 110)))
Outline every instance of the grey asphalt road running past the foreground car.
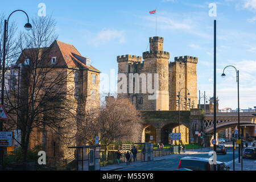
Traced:
MULTIPOLYGON (((198 152, 197 154, 191 154, 186 156, 193 156, 193 157, 200 157, 200 158, 209 158, 209 151, 204 152, 198 152)), ((141 166, 137 167, 129 167, 124 169, 119 169, 119 171, 173 171, 177 169, 177 166, 179 164, 180 158, 183 158, 183 156, 177 156, 173 159, 165 159, 165 160, 159 160, 152 163, 143 164, 141 166)), ((238 150, 235 151, 235 159, 238 158, 238 150)), ((218 154, 217 155, 217 161, 225 162, 230 164, 230 162, 233 160, 233 150, 232 148, 228 148, 227 154, 218 154)))

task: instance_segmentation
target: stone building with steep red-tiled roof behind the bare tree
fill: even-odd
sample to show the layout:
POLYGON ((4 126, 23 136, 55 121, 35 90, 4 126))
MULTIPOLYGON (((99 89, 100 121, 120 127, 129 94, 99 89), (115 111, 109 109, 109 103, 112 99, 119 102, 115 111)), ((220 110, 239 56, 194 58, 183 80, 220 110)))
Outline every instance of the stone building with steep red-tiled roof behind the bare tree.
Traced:
MULTIPOLYGON (((26 108, 20 106, 24 103, 24 105, 27 105, 26 102, 29 100, 28 97, 30 97, 25 96, 26 94, 24 94, 24 90, 30 88, 30 86, 28 86, 27 77, 31 72, 28 72, 28 70, 34 67, 34 53, 36 53, 36 51, 37 50, 33 48, 24 49, 20 54, 18 61, 16 61, 16 65, 11 67, 8 72, 9 84, 7 87, 9 87, 10 90, 9 94, 13 96, 10 102, 19 105, 18 113, 14 112, 14 117, 11 117, 13 123, 20 122, 19 120, 23 119, 23 115, 26 113, 26 108)), ((46 81, 45 85, 47 85, 54 83, 56 77, 63 76, 63 80, 61 80, 62 84, 56 84, 52 89, 57 90, 57 87, 59 87, 61 89, 59 92, 63 92, 60 94, 60 97, 65 96, 68 100, 72 101, 70 103, 73 104, 73 115, 78 115, 78 113, 83 110, 100 108, 100 71, 90 64, 89 58, 83 57, 71 44, 63 43, 58 40, 55 40, 48 48, 40 48, 38 52, 38 61, 40 61, 40 64, 38 64, 38 71, 43 73, 42 77, 46 77, 41 78, 39 76, 38 80, 46 81), (48 70, 48 72, 46 73, 44 70, 48 70)), ((38 85, 42 85, 42 83, 38 85)), ((45 92, 43 89, 36 89, 38 89, 37 92, 39 94, 45 92)), ((29 89, 26 91, 30 92, 29 89)), ((35 92, 35 94, 37 93, 35 92)), ((40 98, 36 102, 40 102, 40 98)), ((59 104, 61 104, 61 101, 59 104)), ((51 105, 51 103, 47 102, 46 107, 48 105, 51 105)), ((11 107, 10 104, 7 107, 11 107)), ((54 114, 61 113, 58 113, 58 110, 56 109, 56 113, 53 113, 53 115, 54 114)), ((47 120, 45 114, 40 115, 39 118, 47 120)), ((77 123, 82 120, 81 118, 79 119, 79 117, 71 117, 69 120, 73 121, 74 125, 65 132, 75 136, 77 132, 77 123)), ((66 121, 64 120, 62 123, 65 125, 65 122, 66 121)), ((29 148, 33 148, 36 145, 42 146, 42 150, 46 151, 46 155, 49 159, 54 159, 59 162, 72 156, 73 151, 68 150, 67 147, 80 145, 81 143, 77 137, 74 137, 68 142, 61 140, 57 135, 57 133, 60 133, 61 126, 57 126, 57 129, 52 129, 52 127, 48 127, 47 125, 44 126, 42 123, 38 124, 38 127, 33 127, 30 135, 30 142, 28 143, 29 148)), ((20 130, 18 124, 17 127, 17 129, 20 130)))

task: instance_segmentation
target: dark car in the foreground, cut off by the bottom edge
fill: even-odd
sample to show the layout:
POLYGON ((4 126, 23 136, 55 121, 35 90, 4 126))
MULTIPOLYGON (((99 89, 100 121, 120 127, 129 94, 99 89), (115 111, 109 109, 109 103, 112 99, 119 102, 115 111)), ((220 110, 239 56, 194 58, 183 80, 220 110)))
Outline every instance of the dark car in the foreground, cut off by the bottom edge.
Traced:
MULTIPOLYGON (((229 167, 226 167, 225 163, 216 162, 217 171, 229 171, 229 167)), ((213 171, 213 164, 209 163, 208 158, 192 158, 185 157, 181 158, 179 162, 178 169, 187 168, 193 171, 213 171)))

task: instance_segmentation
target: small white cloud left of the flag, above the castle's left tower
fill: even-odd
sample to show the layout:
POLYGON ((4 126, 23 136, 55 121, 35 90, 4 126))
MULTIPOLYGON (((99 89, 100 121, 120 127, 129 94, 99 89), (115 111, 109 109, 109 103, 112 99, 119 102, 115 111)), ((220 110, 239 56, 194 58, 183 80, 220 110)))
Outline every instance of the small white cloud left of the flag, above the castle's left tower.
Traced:
POLYGON ((125 43, 125 31, 114 30, 114 29, 102 29, 97 33, 96 36, 92 36, 94 38, 90 38, 88 43, 94 46, 99 46, 101 44, 106 44, 109 42, 115 42, 118 44, 125 43))

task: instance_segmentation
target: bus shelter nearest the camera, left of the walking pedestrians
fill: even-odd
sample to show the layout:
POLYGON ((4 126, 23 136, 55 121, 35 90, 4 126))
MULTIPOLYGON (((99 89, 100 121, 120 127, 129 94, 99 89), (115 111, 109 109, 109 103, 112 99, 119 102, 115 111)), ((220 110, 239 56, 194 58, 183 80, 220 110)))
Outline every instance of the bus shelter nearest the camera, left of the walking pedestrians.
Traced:
POLYGON ((101 146, 77 146, 77 171, 100 171, 101 146))

